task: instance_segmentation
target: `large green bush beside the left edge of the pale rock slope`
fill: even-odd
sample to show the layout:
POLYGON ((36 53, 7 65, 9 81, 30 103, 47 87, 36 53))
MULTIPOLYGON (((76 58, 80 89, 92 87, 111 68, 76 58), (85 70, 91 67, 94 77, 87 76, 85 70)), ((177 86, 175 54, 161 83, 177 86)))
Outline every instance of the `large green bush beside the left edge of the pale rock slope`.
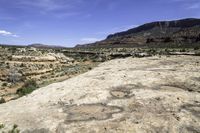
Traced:
POLYGON ((35 80, 28 80, 20 89, 17 90, 19 96, 24 96, 32 93, 39 86, 35 80))

